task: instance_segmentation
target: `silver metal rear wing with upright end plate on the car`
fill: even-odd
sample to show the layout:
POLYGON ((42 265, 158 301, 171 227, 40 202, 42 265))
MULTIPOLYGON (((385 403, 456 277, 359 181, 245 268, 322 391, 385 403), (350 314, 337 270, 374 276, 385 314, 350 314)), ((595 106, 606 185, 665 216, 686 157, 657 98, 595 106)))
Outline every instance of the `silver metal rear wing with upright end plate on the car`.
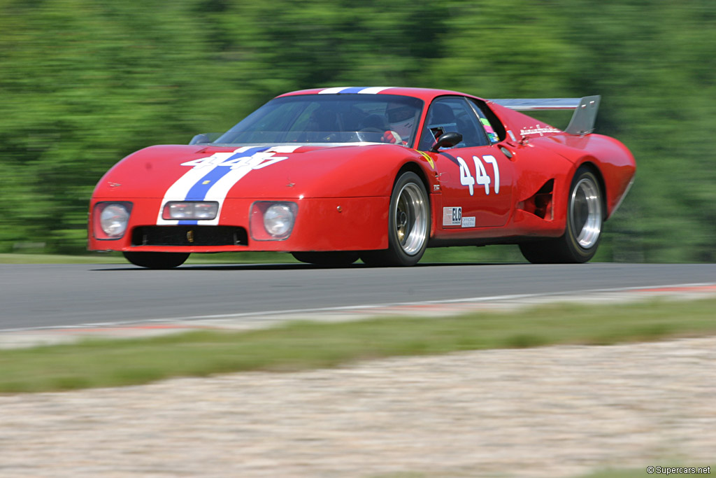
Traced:
POLYGON ((516 111, 536 110, 574 110, 574 115, 567 126, 568 135, 588 135, 594 131, 596 112, 599 110, 601 96, 585 96, 583 98, 536 98, 521 100, 490 100, 498 105, 516 111))

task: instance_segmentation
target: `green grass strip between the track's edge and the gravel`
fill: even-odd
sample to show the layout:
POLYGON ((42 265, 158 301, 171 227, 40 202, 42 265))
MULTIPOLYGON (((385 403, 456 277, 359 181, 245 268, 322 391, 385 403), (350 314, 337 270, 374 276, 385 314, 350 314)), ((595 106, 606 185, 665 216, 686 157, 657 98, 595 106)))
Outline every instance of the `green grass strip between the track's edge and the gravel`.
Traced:
POLYGON ((291 322, 243 333, 198 331, 0 350, 0 392, 126 386, 176 376, 298 371, 356 360, 551 344, 601 345, 712 335, 716 299, 357 322, 291 322))

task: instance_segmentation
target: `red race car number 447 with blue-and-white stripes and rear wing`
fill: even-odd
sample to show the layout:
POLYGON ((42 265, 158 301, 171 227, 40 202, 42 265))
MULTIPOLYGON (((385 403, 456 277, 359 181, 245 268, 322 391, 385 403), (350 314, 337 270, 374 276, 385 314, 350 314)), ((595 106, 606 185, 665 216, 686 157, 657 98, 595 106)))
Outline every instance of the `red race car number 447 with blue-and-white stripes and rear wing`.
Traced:
POLYGON ((599 96, 482 100, 334 87, 280 95, 223 134, 122 159, 89 206, 89 249, 142 267, 193 252, 416 264, 426 247, 519 244, 586 262, 636 169, 592 134, 599 96), (519 110, 573 109, 566 130, 519 110))

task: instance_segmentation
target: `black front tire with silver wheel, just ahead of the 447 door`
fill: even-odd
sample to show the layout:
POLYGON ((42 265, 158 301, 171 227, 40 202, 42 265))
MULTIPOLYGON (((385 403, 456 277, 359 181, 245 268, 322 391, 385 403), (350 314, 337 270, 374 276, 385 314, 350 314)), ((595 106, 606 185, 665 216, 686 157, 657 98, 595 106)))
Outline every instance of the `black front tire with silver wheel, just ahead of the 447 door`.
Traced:
POLYGON ((364 251, 369 266, 413 266, 430 239, 430 201, 420 176, 402 173, 395 181, 388 211, 388 248, 364 251))

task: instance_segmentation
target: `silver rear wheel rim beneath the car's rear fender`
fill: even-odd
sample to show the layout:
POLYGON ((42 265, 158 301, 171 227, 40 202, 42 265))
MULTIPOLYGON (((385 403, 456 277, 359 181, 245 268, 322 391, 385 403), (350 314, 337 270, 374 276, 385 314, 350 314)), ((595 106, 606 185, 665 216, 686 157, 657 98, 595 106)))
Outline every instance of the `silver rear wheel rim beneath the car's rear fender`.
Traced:
POLYGON ((601 234, 601 199, 599 186, 591 178, 582 178, 574 186, 569 201, 569 219, 579 246, 590 249, 601 234))

